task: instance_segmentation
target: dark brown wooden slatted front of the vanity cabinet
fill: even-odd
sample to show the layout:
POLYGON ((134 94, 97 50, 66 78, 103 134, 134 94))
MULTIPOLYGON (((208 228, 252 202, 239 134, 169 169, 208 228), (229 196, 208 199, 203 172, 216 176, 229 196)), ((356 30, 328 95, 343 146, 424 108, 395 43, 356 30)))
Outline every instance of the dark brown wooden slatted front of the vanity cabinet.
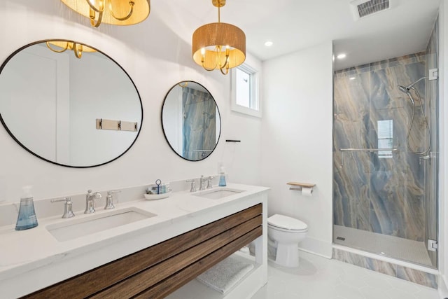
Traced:
POLYGON ((165 298, 262 235, 262 204, 23 298, 165 298))

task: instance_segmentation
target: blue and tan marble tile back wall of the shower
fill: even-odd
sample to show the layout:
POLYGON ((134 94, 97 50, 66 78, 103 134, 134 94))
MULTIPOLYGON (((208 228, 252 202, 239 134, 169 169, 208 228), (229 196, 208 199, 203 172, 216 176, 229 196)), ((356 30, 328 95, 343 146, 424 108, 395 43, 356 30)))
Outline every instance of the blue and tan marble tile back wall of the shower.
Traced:
MULTIPOLYGON (((335 74, 335 224, 423 241, 424 165, 407 149, 412 104, 397 86, 409 85, 425 73, 426 55, 416 53, 335 74), (398 151, 388 158, 378 152, 347 152, 341 166, 340 148, 379 148, 379 120, 392 120, 391 139, 398 151)), ((424 81, 414 87, 424 101, 424 81)), ((416 113, 409 144, 423 151, 426 138, 423 118, 416 113)))

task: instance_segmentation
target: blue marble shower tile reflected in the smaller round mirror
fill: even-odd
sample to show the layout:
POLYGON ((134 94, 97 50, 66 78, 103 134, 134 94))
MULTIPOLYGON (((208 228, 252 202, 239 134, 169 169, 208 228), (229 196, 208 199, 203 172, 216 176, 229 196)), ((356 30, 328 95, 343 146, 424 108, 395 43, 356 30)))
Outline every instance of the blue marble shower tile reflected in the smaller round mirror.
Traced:
POLYGON ((183 153, 202 160, 216 145, 216 103, 208 93, 183 88, 183 153))

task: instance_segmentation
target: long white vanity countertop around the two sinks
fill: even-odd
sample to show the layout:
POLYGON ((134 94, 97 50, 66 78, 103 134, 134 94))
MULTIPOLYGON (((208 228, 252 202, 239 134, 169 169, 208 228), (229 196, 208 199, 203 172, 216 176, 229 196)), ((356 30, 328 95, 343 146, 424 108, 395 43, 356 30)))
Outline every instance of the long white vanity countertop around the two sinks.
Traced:
POLYGON ((0 227, 0 290, 2 298, 16 298, 58 281, 104 265, 166 239, 233 214, 254 204, 266 204, 258 196, 269 188, 230 183, 190 193, 174 192, 162 200, 142 199, 116 204, 116 209, 97 207, 94 214, 78 211, 74 218, 60 216, 38 219, 38 226, 16 231, 15 225, 0 227), (218 188, 244 190, 212 200, 195 194, 218 188), (156 214, 116 228, 59 242, 46 229, 48 225, 98 216, 134 207, 156 214))

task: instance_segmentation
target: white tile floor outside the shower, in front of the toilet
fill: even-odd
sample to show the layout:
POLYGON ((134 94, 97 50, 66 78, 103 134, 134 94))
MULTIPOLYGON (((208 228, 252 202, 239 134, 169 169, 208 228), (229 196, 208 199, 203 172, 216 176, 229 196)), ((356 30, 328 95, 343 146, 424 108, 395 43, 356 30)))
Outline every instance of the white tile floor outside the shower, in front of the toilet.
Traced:
POLYGON ((252 299, 439 299, 409 281, 300 251, 300 266, 269 261, 268 281, 252 299))

